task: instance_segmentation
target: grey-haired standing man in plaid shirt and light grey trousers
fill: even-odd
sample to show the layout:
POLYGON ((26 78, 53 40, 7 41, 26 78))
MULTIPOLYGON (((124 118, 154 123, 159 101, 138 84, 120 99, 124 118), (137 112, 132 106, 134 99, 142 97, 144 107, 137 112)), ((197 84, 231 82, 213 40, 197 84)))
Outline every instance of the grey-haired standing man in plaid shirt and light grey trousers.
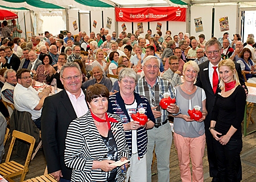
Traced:
POLYGON ((167 110, 159 106, 164 93, 175 98, 174 87, 167 80, 158 77, 160 60, 155 56, 147 56, 142 63, 144 76, 138 80, 135 92, 145 96, 150 102, 155 117, 155 126, 147 130, 147 181, 151 181, 151 164, 153 151, 158 156, 158 181, 170 181, 170 151, 172 144, 172 131, 168 121, 168 114, 179 113, 179 107, 171 104, 167 110))

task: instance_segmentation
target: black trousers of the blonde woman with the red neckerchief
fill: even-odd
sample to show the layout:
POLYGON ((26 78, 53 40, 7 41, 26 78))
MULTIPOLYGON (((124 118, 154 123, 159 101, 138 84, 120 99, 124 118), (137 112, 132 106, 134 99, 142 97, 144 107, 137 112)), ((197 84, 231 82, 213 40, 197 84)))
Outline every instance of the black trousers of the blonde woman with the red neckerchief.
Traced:
POLYGON ((220 182, 241 181, 242 139, 230 139, 225 145, 214 139, 213 146, 217 157, 218 180, 220 182))

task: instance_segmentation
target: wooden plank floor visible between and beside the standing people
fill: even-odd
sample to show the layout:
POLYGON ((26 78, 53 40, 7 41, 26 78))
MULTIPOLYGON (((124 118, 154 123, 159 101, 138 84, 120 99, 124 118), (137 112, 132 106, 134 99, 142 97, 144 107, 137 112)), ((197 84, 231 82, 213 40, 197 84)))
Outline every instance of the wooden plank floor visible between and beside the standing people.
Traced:
MULTIPOLYGON (((253 119, 256 122, 256 109, 253 113, 253 119)), ((248 131, 255 130, 256 124, 249 125, 248 131)), ((243 137, 243 149, 241 152, 241 160, 242 160, 242 172, 243 172, 243 179, 242 181, 250 182, 256 181, 256 132, 243 137)), ((6 153, 9 147, 9 142, 6 144, 6 153)), ((208 168, 208 160, 207 160, 207 149, 205 148, 204 154, 204 181, 208 182, 211 181, 211 177, 209 177, 209 168, 208 168)), ((4 156, 5 159, 6 156, 4 156)), ((3 161, 4 161, 3 159, 3 161)), ((16 155, 13 155, 12 159, 16 162, 24 163, 24 160, 19 158, 16 155)), ((158 180, 157 170, 156 170, 156 163, 153 166, 152 173, 152 181, 156 182, 158 180)), ((40 149, 38 154, 36 154, 35 158, 31 161, 29 166, 29 172, 26 175, 25 179, 30 179, 35 176, 43 175, 44 169, 46 168, 46 160, 44 159, 43 150, 40 149)), ((15 178, 14 181, 19 181, 19 177, 15 178)), ((179 162, 177 160, 177 152, 175 150, 174 144, 172 142, 172 148, 170 153, 170 181, 176 182, 180 180, 180 172, 179 172, 179 162)), ((161 182, 161 181, 159 181, 161 182)))

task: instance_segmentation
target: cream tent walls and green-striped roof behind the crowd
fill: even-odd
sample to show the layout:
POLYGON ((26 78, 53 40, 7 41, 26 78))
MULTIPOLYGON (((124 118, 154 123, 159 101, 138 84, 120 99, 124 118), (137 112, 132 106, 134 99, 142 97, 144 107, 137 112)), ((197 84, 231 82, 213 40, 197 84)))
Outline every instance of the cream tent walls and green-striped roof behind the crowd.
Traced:
MULTIPOLYGON (((18 14, 18 23, 22 29, 32 31, 34 35, 42 34, 44 31, 57 35, 63 30, 71 31, 72 34, 77 34, 79 31, 99 32, 101 27, 106 27, 110 19, 112 24, 108 28, 109 32, 121 32, 123 23, 125 23, 127 32, 135 32, 139 23, 143 25, 144 30, 150 28, 156 32, 160 23, 162 32, 171 30, 172 35, 178 34, 180 31, 194 36, 205 34, 209 39, 212 36, 222 36, 225 28, 221 29, 221 19, 228 19, 229 30, 226 31, 230 35, 240 33, 247 37, 247 34, 253 33, 247 32, 251 31, 251 28, 249 30, 244 28, 245 23, 249 24, 248 22, 254 22, 251 23, 251 26, 253 31, 256 31, 256 26, 253 26, 256 21, 254 18, 256 17, 254 16, 256 2, 250 0, 242 2, 233 0, 0 0, 0 2, 0 9, 8 9, 18 14), (153 22, 116 20, 115 9, 117 8, 125 10, 144 7, 149 9, 152 7, 176 8, 176 11, 179 8, 185 9, 185 20, 155 20, 153 22), (203 22, 200 28, 196 26, 197 20, 203 22), (73 22, 78 25, 77 30, 74 29, 73 22), (97 22, 95 27, 93 26, 94 22, 97 22)), ((25 37, 26 34, 22 36, 25 37)))

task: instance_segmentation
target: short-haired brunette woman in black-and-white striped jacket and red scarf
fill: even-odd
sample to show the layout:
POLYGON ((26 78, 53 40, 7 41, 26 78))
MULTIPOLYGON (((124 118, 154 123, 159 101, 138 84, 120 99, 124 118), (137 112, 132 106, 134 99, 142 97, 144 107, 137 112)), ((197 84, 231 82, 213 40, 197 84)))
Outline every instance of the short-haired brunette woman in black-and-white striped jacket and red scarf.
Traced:
POLYGON ((125 166, 111 164, 129 158, 129 149, 121 119, 106 112, 108 97, 106 86, 89 86, 86 101, 90 110, 68 127, 64 159, 67 167, 72 168, 71 181, 124 180, 121 169, 125 166))

